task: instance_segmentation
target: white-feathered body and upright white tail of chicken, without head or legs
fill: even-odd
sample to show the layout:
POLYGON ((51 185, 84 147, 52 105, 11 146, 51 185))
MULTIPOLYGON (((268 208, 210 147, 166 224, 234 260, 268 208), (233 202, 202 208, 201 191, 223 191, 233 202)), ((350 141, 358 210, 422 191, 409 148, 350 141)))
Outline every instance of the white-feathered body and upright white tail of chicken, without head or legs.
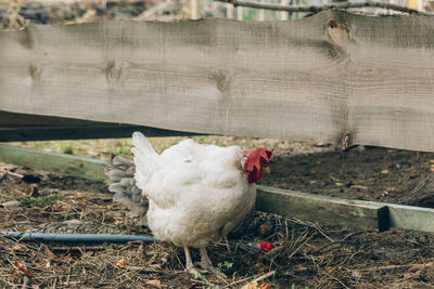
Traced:
POLYGON ((202 247, 224 237, 252 209, 256 187, 241 170, 241 148, 186 140, 157 155, 132 135, 137 185, 149 198, 155 238, 202 247))

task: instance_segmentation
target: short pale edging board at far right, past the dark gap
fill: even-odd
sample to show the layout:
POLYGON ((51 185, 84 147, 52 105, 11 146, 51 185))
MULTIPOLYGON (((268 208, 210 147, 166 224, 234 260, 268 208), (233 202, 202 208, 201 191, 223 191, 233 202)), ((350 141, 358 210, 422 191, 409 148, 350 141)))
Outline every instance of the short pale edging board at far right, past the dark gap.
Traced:
POLYGON ((391 227, 434 233, 434 209, 387 203, 391 227))

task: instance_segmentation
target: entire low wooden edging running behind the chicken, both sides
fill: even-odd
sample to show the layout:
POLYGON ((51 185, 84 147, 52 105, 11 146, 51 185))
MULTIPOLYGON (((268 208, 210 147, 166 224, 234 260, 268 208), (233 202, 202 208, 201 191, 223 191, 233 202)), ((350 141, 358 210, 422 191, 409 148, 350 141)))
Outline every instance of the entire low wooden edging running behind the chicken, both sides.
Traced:
MULTIPOLYGON (((0 161, 105 181, 105 161, 92 158, 0 144, 0 161)), ((397 227, 434 233, 434 209, 257 187, 258 211, 360 229, 397 227)))

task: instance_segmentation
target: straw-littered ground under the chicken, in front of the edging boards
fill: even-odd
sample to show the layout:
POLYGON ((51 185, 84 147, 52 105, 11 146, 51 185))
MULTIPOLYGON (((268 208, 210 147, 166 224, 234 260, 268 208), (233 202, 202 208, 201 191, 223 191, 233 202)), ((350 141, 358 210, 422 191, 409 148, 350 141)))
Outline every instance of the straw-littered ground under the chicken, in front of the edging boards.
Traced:
MULTIPOLYGON (((38 184, 5 175, 0 229, 151 235, 126 218, 99 182, 2 163, 38 184)), ((314 212, 312 212, 314 213, 314 212)), ((7 288, 430 288, 433 234, 363 232, 256 212, 240 239, 208 248, 228 278, 183 270, 180 248, 166 242, 62 244, 0 238, 0 285, 7 288), (252 244, 270 242, 270 251, 252 244), (252 283, 259 279, 256 283, 252 283), (153 287, 154 286, 154 287, 153 287), (263 286, 263 287, 260 287, 263 286), (24 287, 26 288, 26 287, 24 287)), ((193 260, 199 252, 192 250, 193 260)))

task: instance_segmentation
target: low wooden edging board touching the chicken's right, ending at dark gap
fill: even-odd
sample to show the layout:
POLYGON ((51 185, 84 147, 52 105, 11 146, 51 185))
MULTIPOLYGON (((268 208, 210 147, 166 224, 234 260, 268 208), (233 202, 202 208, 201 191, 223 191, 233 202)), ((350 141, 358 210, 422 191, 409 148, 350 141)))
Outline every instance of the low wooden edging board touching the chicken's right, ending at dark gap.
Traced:
POLYGON ((258 186, 258 211, 294 216, 327 225, 386 231, 387 206, 380 202, 347 200, 268 186, 258 186))

